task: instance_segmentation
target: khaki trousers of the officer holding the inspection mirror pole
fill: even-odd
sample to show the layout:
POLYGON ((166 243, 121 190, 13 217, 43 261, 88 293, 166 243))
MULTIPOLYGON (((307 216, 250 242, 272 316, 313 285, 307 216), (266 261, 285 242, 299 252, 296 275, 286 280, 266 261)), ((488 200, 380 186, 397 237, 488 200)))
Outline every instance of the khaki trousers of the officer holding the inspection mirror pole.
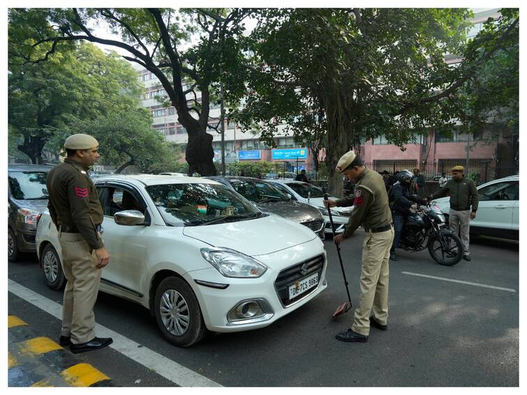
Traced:
POLYGON ((367 232, 362 244, 360 301, 355 309, 351 329, 369 335, 370 317, 382 324, 388 319, 389 248, 394 241, 394 228, 386 232, 367 232), (373 312, 373 314, 372 314, 373 312))

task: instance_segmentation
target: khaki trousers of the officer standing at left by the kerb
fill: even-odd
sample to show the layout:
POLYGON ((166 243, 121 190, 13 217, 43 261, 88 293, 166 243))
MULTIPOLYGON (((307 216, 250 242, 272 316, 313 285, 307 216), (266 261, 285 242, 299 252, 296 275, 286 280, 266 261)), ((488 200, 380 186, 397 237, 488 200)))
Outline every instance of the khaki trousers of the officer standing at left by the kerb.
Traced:
POLYGON ((97 258, 80 233, 60 233, 62 269, 68 280, 64 289, 61 336, 71 336, 80 344, 95 337, 94 305, 97 299, 101 269, 97 258))

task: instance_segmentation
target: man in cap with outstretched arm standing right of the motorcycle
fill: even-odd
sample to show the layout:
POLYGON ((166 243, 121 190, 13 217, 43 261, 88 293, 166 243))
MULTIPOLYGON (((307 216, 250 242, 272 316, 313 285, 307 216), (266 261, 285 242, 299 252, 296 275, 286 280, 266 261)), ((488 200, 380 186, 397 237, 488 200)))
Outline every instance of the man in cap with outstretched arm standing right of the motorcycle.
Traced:
POLYGON ((450 212, 448 216, 450 230, 459 234, 465 251, 463 259, 470 260, 470 221, 476 218, 478 197, 474 181, 465 177, 463 166, 452 167, 452 179, 447 181, 436 193, 429 196, 429 200, 443 198, 450 193, 450 212))

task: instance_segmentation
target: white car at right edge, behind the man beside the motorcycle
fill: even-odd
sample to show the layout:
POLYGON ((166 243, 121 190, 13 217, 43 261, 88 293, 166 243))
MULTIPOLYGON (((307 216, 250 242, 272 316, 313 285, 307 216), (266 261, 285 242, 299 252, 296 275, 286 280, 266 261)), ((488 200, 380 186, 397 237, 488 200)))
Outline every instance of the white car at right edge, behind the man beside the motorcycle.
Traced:
MULTIPOLYGON (((476 218, 470 221, 470 232, 487 236, 518 239, 519 175, 495 179, 477 187, 480 200, 476 218)), ((448 216, 450 198, 436 199, 448 216)))

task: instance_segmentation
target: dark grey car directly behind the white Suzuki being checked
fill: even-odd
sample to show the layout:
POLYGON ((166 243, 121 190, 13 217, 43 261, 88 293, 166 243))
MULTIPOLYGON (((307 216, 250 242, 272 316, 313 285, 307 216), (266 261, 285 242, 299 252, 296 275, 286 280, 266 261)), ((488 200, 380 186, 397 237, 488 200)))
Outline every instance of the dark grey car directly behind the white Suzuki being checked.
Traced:
POLYGON ((324 217, 310 204, 292 200, 271 183, 252 177, 204 177, 234 188, 237 193, 255 204, 260 211, 277 214, 307 226, 319 237, 324 237, 324 217))

